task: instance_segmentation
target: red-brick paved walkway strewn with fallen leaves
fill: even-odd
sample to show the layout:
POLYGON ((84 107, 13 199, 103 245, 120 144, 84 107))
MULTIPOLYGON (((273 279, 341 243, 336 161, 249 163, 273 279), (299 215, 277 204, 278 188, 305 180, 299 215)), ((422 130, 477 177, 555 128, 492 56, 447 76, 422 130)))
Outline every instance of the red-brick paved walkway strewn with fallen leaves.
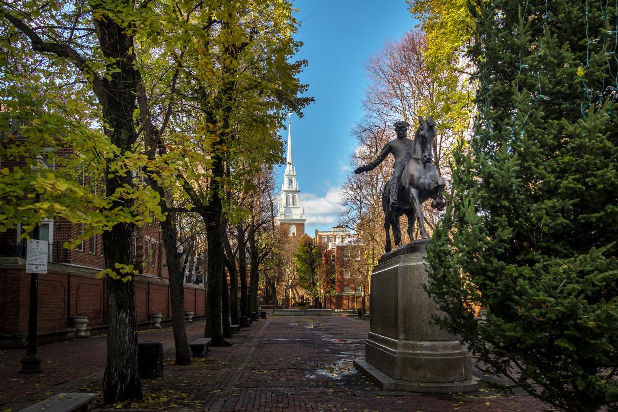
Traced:
MULTIPOLYGON (((191 366, 174 366, 170 351, 166 356, 164 377, 143 381, 145 400, 116 407, 153 411, 515 412, 548 409, 548 405, 528 395, 506 396, 493 390, 454 395, 380 390, 352 367, 352 360, 364 355, 368 329, 368 322, 346 316, 269 317, 235 335, 230 340, 233 346, 212 348, 207 358, 197 359, 191 366)), ((201 324, 190 326, 191 338, 200 332, 201 324)), ((148 338, 171 342, 171 330, 148 332, 148 338)), ((104 338, 93 338, 48 347, 57 347, 59 350, 49 350, 71 358, 72 355, 62 350, 68 352, 67 348, 73 345, 74 355, 81 356, 82 361, 88 358, 88 369, 95 370, 104 366, 104 343, 92 342, 95 340, 104 342, 104 338)), ((44 347, 45 350, 48 347, 44 347)), ((44 357, 43 353, 41 350, 44 357)), ((2 356, 13 355, 5 353, 2 356)), ((17 356, 18 363, 20 356, 23 351, 17 356)), ((61 359, 57 361, 62 363, 61 359)), ((80 373, 77 364, 79 362, 74 361, 73 366, 67 368, 72 376, 80 373)), ((83 370, 83 364, 80 366, 83 370)), ((1 368, 3 372, 5 366, 1 368)), ((51 368, 46 370, 49 370, 46 385, 50 387, 54 385, 55 372, 51 368)), ((22 375, 17 377, 24 379, 22 375)), ((2 382, 6 380, 4 374, 1 379, 2 382)), ((11 384, 11 380, 8 382, 9 387, 17 386, 11 384)), ((20 387, 30 388, 30 393, 36 392, 40 387, 32 389, 34 382, 20 382, 20 387)), ((99 390, 99 385, 100 382, 80 385, 75 390, 80 387, 99 390)), ((98 410, 111 409, 99 405, 98 410)))

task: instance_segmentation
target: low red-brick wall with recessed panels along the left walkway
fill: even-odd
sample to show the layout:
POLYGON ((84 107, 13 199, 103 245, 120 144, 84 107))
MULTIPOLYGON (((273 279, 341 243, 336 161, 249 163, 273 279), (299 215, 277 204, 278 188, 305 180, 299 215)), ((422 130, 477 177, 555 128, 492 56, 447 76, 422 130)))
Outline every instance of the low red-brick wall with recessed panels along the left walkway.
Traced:
MULTIPOLYGON (((66 337, 72 318, 88 316, 88 327, 105 326, 107 302, 105 280, 97 279, 96 269, 49 263, 47 274, 39 274, 38 332, 58 333, 66 337)), ((25 272, 25 259, 0 258, 0 347, 24 338, 28 331, 30 305, 30 274, 25 272)), ((151 321, 151 313, 163 313, 171 319, 169 284, 167 279, 138 275, 135 282, 138 324, 151 321)), ((206 293, 203 287, 185 284, 185 310, 195 317, 206 314, 206 293)))

